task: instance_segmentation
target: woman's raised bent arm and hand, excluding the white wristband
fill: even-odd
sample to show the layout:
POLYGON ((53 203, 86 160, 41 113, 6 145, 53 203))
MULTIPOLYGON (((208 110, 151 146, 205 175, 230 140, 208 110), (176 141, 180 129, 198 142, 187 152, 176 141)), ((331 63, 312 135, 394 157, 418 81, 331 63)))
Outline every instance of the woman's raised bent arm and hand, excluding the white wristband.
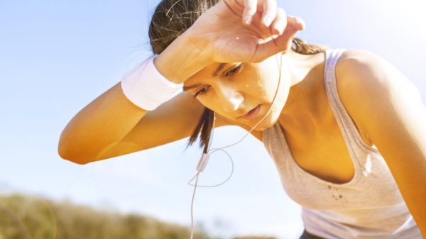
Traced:
MULTIPOLYGON (((259 62, 285 52, 303 28, 299 18, 277 9, 275 0, 220 1, 155 58, 155 67, 170 82, 182 83, 216 62, 259 62), (244 23, 251 13, 251 23, 244 23)), ((202 110, 182 93, 148 112, 116 84, 72 118, 58 151, 66 160, 86 164, 153 148, 189 136, 202 110)), ((227 122, 217 120, 216 126, 227 122)))

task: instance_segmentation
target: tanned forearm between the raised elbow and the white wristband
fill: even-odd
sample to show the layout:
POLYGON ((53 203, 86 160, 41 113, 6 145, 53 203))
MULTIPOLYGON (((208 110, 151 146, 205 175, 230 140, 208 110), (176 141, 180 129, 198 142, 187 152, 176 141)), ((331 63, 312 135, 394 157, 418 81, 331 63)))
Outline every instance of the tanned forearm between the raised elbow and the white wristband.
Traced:
POLYGON ((84 107, 60 135, 58 152, 66 160, 84 164, 124 138, 148 111, 126 98, 118 83, 84 107))

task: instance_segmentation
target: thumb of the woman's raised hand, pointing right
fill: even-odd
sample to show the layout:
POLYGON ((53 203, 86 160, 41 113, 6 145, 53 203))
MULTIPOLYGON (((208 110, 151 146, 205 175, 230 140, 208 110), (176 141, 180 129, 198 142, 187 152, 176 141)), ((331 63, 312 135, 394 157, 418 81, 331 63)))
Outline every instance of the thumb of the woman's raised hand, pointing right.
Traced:
POLYGON ((300 22, 298 22, 296 19, 297 18, 288 17, 288 24, 282 35, 279 35, 277 38, 273 38, 266 43, 258 45, 258 48, 253 55, 253 62, 261 62, 262 60, 265 60, 266 58, 271 57, 278 52, 283 52, 283 54, 288 52, 291 48, 291 43, 295 38, 295 35, 301 28, 300 22), (294 26, 296 26, 296 28, 294 26))

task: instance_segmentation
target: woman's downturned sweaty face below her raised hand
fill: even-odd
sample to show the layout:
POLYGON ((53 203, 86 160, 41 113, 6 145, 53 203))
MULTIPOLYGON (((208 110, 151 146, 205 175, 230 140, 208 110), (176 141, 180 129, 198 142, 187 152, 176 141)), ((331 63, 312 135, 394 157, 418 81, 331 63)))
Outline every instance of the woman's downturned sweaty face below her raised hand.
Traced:
POLYGON ((184 82, 187 93, 201 104, 234 123, 250 128, 271 112, 255 130, 265 130, 278 121, 290 89, 289 74, 282 70, 280 54, 259 63, 214 63, 184 82), (258 109, 256 109, 256 107, 258 109), (249 111, 251 117, 244 117, 249 111))

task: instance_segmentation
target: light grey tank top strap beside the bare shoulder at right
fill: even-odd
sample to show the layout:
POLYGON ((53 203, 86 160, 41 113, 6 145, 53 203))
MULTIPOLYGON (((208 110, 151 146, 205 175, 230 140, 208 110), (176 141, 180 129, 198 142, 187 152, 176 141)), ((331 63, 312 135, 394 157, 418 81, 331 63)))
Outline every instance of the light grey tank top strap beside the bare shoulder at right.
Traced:
POLYGON ((356 124, 344 108, 339 97, 339 92, 337 91, 336 65, 339 57, 345 50, 346 49, 334 49, 325 51, 324 83, 327 91, 327 98, 346 143, 350 145, 355 143, 356 146, 364 150, 371 150, 371 146, 364 142, 356 124))

